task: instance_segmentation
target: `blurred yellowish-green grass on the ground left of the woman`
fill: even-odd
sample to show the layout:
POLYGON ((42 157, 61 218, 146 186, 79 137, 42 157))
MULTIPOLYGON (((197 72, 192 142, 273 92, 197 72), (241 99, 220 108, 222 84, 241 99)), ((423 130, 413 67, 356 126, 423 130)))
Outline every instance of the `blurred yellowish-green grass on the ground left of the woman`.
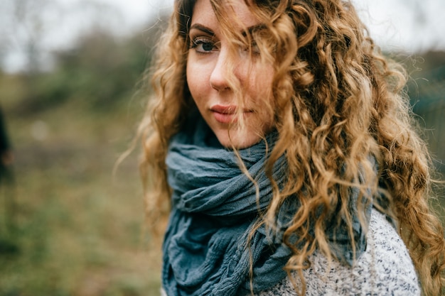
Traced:
POLYGON ((72 98, 17 116, 25 102, 9 98, 1 103, 15 186, 0 194, 2 204, 14 197, 9 213, 0 208, 8 246, 0 295, 159 295, 161 256, 144 229, 138 152, 112 173, 134 136, 140 101, 100 111, 72 98))

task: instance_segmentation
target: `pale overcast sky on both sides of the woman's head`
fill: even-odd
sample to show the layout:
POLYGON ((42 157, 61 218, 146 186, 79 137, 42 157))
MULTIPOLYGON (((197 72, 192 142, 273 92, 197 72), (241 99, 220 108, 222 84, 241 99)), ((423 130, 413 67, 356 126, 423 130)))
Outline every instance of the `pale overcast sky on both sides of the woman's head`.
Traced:
MULTIPOLYGON (((16 0, 2 1, 0 9, 1 5, 7 9, 8 1, 16 0)), ((59 5, 58 9, 46 9, 44 17, 45 36, 42 43, 48 51, 69 47, 77 35, 99 22, 98 11, 102 26, 127 33, 144 30, 146 23, 162 12, 170 11, 173 6, 173 0, 49 0, 48 3, 50 1, 56 1, 59 5), (102 10, 104 13, 100 13, 102 10)), ((385 50, 404 50, 408 53, 445 50, 444 0, 352 1, 370 29, 372 38, 385 50)), ((8 30, 7 26, 4 27, 8 30)), ((12 30, 18 43, 20 30, 12 30)), ((0 33, 5 34, 1 28, 0 33)), ((19 69, 23 67, 23 54, 14 47, 14 42, 10 43, 11 53, 4 64, 7 70, 19 69)))

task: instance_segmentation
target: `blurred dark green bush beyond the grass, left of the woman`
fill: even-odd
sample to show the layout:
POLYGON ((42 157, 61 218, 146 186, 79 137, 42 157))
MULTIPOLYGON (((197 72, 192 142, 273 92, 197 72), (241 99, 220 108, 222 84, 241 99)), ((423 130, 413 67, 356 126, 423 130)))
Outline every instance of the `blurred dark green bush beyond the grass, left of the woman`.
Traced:
POLYGON ((26 87, 21 112, 36 112, 68 99, 107 109, 134 93, 134 85, 150 60, 142 35, 117 39, 105 31, 82 36, 75 48, 54 53, 50 72, 19 75, 26 87))

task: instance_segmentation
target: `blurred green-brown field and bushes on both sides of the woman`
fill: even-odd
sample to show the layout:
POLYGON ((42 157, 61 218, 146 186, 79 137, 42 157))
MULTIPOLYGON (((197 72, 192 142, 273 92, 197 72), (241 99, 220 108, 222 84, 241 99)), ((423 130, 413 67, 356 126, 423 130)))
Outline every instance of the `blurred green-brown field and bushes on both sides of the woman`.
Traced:
MULTIPOLYGON (((14 3, 37 2, 51 1, 14 3)), ((112 171, 144 113, 142 74, 162 19, 126 34, 98 22, 45 54, 38 41, 45 30, 31 20, 30 38, 20 43, 26 66, 0 68, 14 155, 11 182, 0 180, 0 296, 159 295, 161 253, 144 226, 139 146, 112 171)), ((443 174, 445 52, 388 55, 412 73, 413 111, 443 174)), ((444 216, 444 192, 437 196, 444 216)))

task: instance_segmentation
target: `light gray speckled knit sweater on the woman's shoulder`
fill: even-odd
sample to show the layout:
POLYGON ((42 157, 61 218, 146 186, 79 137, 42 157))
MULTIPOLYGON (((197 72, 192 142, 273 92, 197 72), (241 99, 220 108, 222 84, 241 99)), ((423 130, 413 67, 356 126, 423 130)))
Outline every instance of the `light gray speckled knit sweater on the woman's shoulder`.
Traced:
MULTIPOLYGON (((306 296, 315 295, 420 295, 421 289, 406 246, 383 214, 372 209, 365 253, 351 268, 331 262, 321 253, 310 257, 304 270, 306 296)), ((296 283, 299 283, 296 277, 296 283)), ((257 296, 297 295, 289 278, 257 296)))

